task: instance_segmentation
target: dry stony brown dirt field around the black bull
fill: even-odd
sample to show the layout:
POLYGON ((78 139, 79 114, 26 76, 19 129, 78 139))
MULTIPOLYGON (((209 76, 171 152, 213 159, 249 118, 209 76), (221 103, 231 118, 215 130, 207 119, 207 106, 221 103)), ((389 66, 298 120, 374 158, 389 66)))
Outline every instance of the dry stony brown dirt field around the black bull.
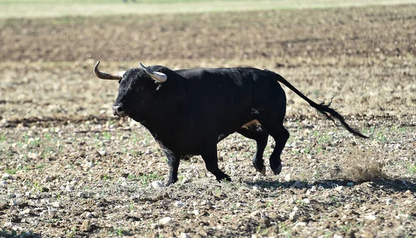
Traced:
MULTIPOLYGON (((0 237, 416 237, 416 5, 0 20, 0 237), (145 65, 252 66, 329 101, 370 139, 290 90, 279 176, 255 143, 218 144, 175 185, 146 128, 112 116, 145 65)), ((270 138, 267 158, 274 148, 270 138)))

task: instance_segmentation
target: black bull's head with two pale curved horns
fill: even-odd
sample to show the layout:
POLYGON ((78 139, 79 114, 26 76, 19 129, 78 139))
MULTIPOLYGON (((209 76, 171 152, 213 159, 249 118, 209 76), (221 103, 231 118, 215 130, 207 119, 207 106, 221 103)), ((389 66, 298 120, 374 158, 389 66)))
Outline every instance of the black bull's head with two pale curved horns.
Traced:
POLYGON ((98 70, 100 61, 94 66, 94 74, 101 79, 119 80, 119 95, 113 105, 115 116, 127 117, 135 108, 143 107, 151 99, 159 83, 168 78, 166 74, 153 71, 144 65, 127 71, 104 73, 98 70))

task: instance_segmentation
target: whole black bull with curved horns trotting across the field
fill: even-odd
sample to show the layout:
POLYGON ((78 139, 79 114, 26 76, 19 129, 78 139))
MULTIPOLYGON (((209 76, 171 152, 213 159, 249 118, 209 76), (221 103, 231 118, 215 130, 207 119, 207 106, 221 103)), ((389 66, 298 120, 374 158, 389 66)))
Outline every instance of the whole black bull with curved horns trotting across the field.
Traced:
POLYGON ((139 121, 168 158, 167 185, 177 181, 180 160, 191 155, 201 155, 218 181, 230 180, 218 168, 217 143, 234 132, 257 142, 252 163, 263 174, 263 151, 271 135, 276 144, 270 155, 270 168, 279 174, 280 154, 289 138, 283 126, 286 94, 279 82, 328 119, 337 119, 350 133, 365 138, 329 105, 311 101, 272 71, 248 67, 173 71, 141 65, 128 71, 103 73, 98 71, 98 64, 94 67, 98 78, 120 83, 114 115, 139 121))

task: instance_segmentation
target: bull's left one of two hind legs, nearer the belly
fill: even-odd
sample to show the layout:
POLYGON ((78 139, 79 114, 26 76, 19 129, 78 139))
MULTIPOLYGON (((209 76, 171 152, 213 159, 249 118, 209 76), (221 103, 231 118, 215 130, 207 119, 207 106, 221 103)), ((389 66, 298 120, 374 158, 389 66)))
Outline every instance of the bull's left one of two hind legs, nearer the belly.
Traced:
POLYGON ((254 122, 246 124, 240 130, 237 130, 237 132, 245 137, 248 137, 249 139, 254 139, 256 141, 257 151, 252 162, 254 168, 258 172, 266 175, 266 167, 264 166, 263 160, 264 149, 266 148, 268 141, 268 133, 266 132, 266 128, 263 128, 263 126, 261 126, 261 124, 258 122, 254 122))

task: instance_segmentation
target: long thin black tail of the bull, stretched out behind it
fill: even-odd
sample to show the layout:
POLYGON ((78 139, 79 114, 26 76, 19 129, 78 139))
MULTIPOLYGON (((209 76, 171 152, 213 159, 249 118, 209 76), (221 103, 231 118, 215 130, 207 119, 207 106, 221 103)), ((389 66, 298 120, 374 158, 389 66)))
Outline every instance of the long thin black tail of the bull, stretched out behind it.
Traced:
POLYGON ((277 80, 280 83, 283 83, 284 85, 286 85, 286 87, 288 87, 293 92, 295 92, 295 94, 299 95, 302 99, 304 99, 305 101, 307 101, 309 103, 309 105, 311 105, 313 108, 315 108, 316 110, 318 110, 318 112, 320 112, 321 114, 324 114, 325 117, 327 117, 327 119, 330 119, 334 123, 335 123, 335 120, 334 119, 337 119, 345 127, 345 129, 347 129, 353 135, 356 135, 358 137, 368 138, 367 136, 361 134, 358 130, 356 130, 354 128, 351 128, 345 122, 344 117, 341 116, 338 112, 336 112, 336 110, 333 110, 332 108, 329 108, 329 105, 331 105, 331 103, 329 103, 328 105, 325 105, 324 103, 320 103, 320 104, 315 103, 314 101, 312 101, 311 99, 309 99, 307 96, 305 96, 304 94, 302 94, 302 92, 299 92, 299 90, 297 90, 296 87, 293 87, 293 85, 291 85, 291 83, 289 83, 282 76, 280 76, 279 74, 276 74, 276 75, 277 75, 277 80))

